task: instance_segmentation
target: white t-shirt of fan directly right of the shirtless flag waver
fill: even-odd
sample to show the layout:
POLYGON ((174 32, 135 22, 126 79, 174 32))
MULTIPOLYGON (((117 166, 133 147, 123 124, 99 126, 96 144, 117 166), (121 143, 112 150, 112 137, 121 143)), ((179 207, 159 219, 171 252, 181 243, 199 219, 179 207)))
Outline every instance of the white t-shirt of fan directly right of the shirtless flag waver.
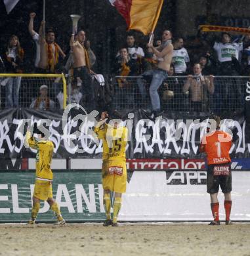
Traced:
POLYGON ((188 51, 185 48, 174 50, 172 63, 175 66, 175 73, 185 73, 186 63, 190 62, 188 51))

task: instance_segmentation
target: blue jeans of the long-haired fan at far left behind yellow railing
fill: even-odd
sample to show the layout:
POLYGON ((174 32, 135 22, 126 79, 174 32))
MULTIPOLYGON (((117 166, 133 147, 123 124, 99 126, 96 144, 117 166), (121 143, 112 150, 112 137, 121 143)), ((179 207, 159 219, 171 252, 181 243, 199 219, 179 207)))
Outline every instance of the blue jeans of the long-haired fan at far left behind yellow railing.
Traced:
POLYGON ((17 108, 21 77, 10 77, 6 85, 6 108, 17 108))

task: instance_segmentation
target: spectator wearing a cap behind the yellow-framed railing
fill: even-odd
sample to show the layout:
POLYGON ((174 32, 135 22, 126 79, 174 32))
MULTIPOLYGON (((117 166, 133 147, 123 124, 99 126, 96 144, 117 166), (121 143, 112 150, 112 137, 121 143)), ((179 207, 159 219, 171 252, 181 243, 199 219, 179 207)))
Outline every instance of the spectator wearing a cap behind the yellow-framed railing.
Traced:
POLYGON ((30 108, 34 110, 54 110, 54 101, 48 97, 47 85, 41 85, 40 96, 31 102, 30 108))

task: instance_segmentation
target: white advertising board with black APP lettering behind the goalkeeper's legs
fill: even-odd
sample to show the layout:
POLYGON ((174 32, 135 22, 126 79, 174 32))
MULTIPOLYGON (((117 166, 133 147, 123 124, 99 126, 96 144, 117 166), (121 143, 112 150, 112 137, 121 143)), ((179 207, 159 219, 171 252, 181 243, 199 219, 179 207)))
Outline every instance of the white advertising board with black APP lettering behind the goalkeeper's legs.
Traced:
MULTIPOLYGON (((123 221, 212 220, 206 171, 135 171, 126 194, 120 219, 123 221)), ((250 176, 232 172, 231 219, 250 221, 250 176)), ((224 196, 219 192, 219 216, 225 220, 224 196)))

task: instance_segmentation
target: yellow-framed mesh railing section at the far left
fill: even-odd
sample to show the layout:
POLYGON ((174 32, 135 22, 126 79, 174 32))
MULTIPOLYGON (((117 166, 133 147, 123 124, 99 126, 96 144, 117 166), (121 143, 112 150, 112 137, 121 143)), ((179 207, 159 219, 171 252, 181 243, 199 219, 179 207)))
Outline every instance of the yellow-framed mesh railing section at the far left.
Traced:
MULTIPOLYGON (((7 87, 10 79, 20 77, 19 108, 30 108, 31 102, 40 96, 39 88, 47 85, 48 97, 56 108, 66 108, 67 87, 64 74, 0 74, 0 109, 7 107, 7 87)), ((12 88, 12 94, 14 93, 12 88)))

